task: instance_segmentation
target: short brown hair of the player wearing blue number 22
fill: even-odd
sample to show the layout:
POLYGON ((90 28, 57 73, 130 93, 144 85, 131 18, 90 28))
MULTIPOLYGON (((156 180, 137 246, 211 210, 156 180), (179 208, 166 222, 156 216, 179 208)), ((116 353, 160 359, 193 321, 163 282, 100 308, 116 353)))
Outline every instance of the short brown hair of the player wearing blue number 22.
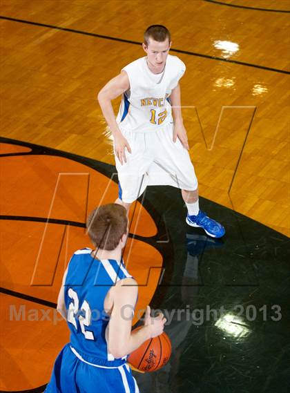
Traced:
POLYGON ((120 204, 110 203, 97 207, 88 215, 88 236, 97 249, 114 250, 127 232, 126 209, 120 204))

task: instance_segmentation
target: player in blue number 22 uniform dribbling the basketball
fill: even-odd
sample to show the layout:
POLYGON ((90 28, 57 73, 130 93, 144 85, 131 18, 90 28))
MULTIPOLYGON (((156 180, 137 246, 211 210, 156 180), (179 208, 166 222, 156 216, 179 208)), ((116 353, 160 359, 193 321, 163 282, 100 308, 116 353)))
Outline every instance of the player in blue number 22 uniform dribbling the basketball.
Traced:
POLYGON ((46 393, 137 393, 126 356, 162 334, 166 319, 150 316, 131 332, 137 282, 122 262, 128 236, 126 209, 99 207, 88 217, 95 247, 75 251, 64 274, 57 309, 67 320, 70 343, 61 350, 46 393))

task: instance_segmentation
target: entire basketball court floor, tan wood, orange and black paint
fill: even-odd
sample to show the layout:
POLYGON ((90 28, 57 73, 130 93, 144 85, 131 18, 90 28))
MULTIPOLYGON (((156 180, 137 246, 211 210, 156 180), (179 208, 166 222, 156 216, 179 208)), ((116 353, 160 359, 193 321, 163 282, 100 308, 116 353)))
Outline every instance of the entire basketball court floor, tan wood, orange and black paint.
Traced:
POLYGON ((118 190, 97 93, 144 55, 155 23, 186 64, 200 205, 226 236, 187 226, 172 187, 131 209, 133 323, 162 309, 173 347, 134 376, 143 393, 289 392, 289 12, 287 0, 1 0, 1 392, 43 392, 69 340, 61 277, 91 247, 88 212, 118 190))

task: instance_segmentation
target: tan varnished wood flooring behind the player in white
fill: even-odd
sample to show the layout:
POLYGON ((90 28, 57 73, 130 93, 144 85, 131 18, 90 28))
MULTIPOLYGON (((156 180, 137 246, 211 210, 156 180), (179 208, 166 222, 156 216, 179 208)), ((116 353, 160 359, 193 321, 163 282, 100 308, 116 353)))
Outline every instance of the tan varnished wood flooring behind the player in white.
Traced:
POLYGON ((187 67, 182 104, 200 195, 289 235, 289 17, 250 9, 287 10, 289 1, 247 7, 2 0, 1 15, 22 21, 0 20, 1 135, 113 164, 97 92, 144 55, 128 41, 141 42, 148 25, 163 23, 173 48, 190 52, 172 55, 187 67))

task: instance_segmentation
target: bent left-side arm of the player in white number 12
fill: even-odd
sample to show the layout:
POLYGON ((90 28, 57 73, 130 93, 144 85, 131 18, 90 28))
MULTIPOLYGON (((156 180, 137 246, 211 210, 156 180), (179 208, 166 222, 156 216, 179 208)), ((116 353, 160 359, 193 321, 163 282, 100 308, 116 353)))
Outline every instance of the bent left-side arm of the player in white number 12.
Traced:
POLYGON ((126 71, 122 71, 117 77, 110 79, 97 95, 99 106, 101 107, 101 111, 114 138, 115 153, 121 164, 123 164, 123 161, 126 162, 125 147, 128 149, 129 153, 131 153, 131 148, 128 141, 119 130, 111 101, 119 97, 119 95, 122 95, 129 88, 130 83, 128 74, 126 71))

